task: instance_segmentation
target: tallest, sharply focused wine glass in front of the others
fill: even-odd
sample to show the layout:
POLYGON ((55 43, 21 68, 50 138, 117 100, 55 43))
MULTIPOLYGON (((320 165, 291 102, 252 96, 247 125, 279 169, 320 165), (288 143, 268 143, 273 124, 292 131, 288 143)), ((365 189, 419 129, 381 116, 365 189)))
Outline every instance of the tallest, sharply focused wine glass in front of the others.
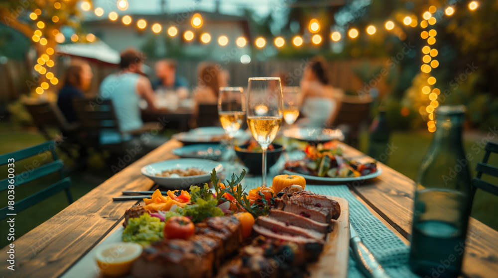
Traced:
POLYGON ((280 77, 249 78, 247 98, 248 126, 262 149, 262 185, 266 185, 266 149, 282 126, 280 77))

